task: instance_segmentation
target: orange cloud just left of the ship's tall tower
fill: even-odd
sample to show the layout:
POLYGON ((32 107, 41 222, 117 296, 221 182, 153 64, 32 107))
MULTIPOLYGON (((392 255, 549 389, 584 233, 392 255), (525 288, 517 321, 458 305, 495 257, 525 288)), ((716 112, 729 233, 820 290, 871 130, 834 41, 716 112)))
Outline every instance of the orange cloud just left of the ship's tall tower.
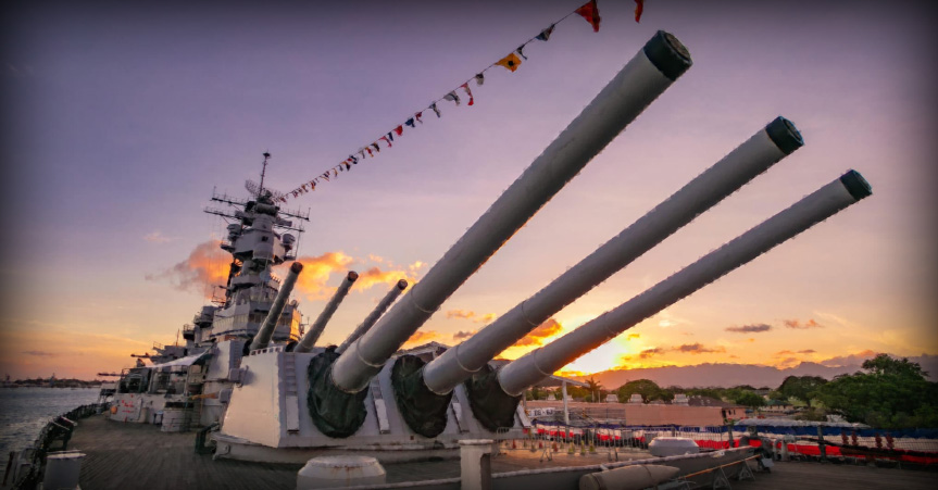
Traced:
POLYGON ((228 280, 228 255, 218 248, 221 243, 218 240, 199 243, 185 261, 143 277, 147 280, 167 280, 176 289, 201 291, 211 298, 212 287, 224 286, 228 280))

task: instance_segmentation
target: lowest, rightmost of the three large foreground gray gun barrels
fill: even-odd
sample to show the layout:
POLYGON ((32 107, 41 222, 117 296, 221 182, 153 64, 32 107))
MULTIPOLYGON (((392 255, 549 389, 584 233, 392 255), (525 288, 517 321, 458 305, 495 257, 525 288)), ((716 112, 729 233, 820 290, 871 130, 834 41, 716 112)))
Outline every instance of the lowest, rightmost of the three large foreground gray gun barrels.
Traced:
POLYGON ((645 318, 871 193, 870 184, 859 173, 848 172, 637 297, 502 367, 498 373, 501 389, 513 397, 521 394, 645 318))

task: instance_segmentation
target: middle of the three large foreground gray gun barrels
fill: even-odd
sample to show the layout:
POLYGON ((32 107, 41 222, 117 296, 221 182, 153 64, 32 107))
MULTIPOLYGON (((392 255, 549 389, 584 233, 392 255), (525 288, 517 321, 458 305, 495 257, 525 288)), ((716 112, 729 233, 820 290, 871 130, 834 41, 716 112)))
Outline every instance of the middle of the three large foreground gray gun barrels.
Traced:
POLYGON ((803 145, 791 122, 777 117, 667 200, 466 341, 423 368, 433 392, 443 394, 564 306, 803 145))

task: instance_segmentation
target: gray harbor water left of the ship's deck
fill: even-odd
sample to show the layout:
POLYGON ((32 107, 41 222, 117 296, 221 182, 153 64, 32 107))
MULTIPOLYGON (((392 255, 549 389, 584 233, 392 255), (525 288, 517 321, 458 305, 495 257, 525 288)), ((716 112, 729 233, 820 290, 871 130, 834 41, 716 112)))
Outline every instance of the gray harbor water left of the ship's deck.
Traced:
MULTIPOLYGON (((0 388, 0 474, 10 451, 33 443, 42 427, 57 415, 95 403, 98 388, 0 388)), ((2 479, 2 476, 0 476, 2 479)))

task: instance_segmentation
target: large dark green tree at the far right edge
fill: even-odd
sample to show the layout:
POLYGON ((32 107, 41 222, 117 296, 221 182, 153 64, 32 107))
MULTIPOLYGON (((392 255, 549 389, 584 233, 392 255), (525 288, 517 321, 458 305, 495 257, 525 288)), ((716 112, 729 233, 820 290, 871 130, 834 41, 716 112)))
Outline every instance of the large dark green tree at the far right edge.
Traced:
POLYGON ((883 429, 938 427, 938 384, 925 379, 917 363, 878 354, 863 369, 820 389, 828 411, 883 429))

